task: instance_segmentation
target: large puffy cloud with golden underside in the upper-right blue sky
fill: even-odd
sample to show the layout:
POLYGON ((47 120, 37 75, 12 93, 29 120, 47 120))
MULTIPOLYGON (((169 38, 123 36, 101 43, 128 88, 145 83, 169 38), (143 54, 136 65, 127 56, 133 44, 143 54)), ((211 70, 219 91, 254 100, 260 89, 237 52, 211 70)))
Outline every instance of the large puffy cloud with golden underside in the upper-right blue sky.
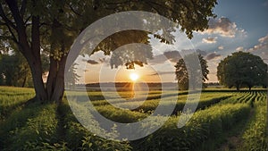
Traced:
POLYGON ((209 28, 205 30, 207 34, 219 34, 222 37, 234 38, 237 34, 245 34, 244 29, 238 29, 235 22, 231 22, 226 17, 219 19, 210 19, 208 21, 209 28))

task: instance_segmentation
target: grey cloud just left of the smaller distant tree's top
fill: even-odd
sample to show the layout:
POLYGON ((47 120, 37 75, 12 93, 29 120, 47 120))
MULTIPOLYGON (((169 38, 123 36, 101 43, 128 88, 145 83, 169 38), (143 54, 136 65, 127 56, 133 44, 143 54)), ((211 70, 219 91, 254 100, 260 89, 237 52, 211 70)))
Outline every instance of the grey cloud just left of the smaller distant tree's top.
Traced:
POLYGON ((181 56, 179 51, 172 50, 164 52, 163 55, 155 55, 153 59, 149 60, 149 63, 164 63, 170 61, 172 63, 177 63, 180 60, 181 56))

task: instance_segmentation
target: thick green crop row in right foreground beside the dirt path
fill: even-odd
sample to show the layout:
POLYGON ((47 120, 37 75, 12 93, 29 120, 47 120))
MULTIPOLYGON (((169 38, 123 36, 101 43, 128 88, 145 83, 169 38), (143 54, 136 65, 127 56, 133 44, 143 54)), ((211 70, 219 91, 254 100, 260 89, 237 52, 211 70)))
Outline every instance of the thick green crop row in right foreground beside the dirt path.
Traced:
POLYGON ((182 128, 177 128, 178 117, 147 138, 136 142, 135 150, 200 150, 208 138, 220 138, 237 122, 247 117, 250 107, 247 104, 215 105, 198 111, 182 128))

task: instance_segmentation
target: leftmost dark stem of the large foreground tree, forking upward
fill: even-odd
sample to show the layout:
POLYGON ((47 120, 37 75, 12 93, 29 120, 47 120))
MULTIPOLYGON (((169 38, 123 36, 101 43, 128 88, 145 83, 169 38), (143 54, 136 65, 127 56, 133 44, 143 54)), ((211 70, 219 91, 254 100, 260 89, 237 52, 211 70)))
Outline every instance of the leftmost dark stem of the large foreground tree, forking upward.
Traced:
POLYGON ((31 41, 26 32, 26 25, 21 18, 18 5, 14 0, 6 0, 11 12, 13 13, 13 18, 16 24, 16 31, 18 33, 18 47, 21 54, 24 55, 27 62, 29 63, 29 68, 32 73, 33 84, 36 92, 36 99, 40 101, 45 101, 46 90, 44 82, 42 79, 42 65, 40 57, 40 35, 39 35, 39 18, 38 16, 32 16, 32 26, 31 26, 31 41), (29 44, 30 43, 30 44, 29 44))

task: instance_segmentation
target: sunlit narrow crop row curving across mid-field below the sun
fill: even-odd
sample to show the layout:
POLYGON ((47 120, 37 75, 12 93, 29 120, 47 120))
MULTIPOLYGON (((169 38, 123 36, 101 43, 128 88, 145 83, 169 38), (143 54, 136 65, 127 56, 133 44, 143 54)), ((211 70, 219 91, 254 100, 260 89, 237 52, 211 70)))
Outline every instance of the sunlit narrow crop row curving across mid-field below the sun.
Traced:
MULTIPOLYGON (((200 101, 195 101, 192 100, 188 103, 188 107, 189 108, 195 108, 195 105, 197 106, 197 110, 198 109, 205 109, 206 107, 210 106, 210 105, 214 105, 217 104, 219 102, 221 102, 222 100, 230 97, 230 94, 211 94, 211 95, 205 95, 205 96, 201 96, 200 101)), ((186 95, 181 95, 178 97, 172 96, 172 97, 166 97, 163 98, 163 104, 162 107, 163 108, 167 108, 168 106, 172 105, 170 103, 170 100, 172 99, 178 99, 177 103, 175 103, 174 108, 172 114, 177 114, 180 111, 183 110, 185 104, 186 104, 186 100, 187 100, 187 96, 186 95)), ((159 105, 159 101, 160 99, 154 99, 154 100, 147 100, 145 102, 141 102, 141 101, 134 101, 134 102, 124 102, 124 103, 115 103, 115 106, 120 106, 121 108, 125 108, 125 109, 132 109, 131 111, 136 111, 136 112, 131 112, 130 110, 123 110, 123 109, 118 109, 117 107, 113 106, 113 105, 96 105, 94 102, 93 105, 96 105, 96 109, 100 112, 103 113, 106 117, 109 116, 111 117, 112 115, 116 115, 119 116, 118 119, 120 119, 120 116, 122 117, 131 117, 129 116, 132 113, 135 113, 136 116, 135 117, 144 117, 144 114, 140 114, 137 115, 139 113, 152 113, 154 112, 155 108, 159 105), (133 109, 134 108, 134 109, 133 109)), ((122 118, 124 120, 127 120, 126 118, 122 118)), ((133 119, 131 119, 133 120, 133 119)), ((130 120, 130 121, 131 121, 130 120)), ((137 120, 137 119, 136 119, 137 120)), ((129 120, 127 120, 129 122, 129 120)))

